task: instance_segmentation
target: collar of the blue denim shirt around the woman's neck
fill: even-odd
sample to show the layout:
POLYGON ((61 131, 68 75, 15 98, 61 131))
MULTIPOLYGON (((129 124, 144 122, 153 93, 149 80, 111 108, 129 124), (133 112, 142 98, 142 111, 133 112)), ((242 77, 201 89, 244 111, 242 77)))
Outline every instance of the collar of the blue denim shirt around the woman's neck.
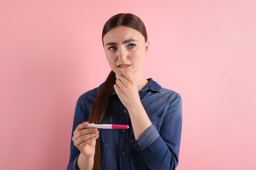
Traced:
MULTIPOLYGON (((102 84, 100 84, 100 86, 98 86, 98 90, 97 92, 100 92, 100 89, 102 88, 104 82, 102 84)), ((161 86, 155 82, 152 78, 148 78, 148 84, 146 84, 146 86, 144 86, 144 88, 142 88, 139 92, 144 92, 146 90, 151 90, 153 92, 159 92, 161 93, 161 86)), ((112 95, 116 94, 116 91, 113 88, 113 92, 112 95)))

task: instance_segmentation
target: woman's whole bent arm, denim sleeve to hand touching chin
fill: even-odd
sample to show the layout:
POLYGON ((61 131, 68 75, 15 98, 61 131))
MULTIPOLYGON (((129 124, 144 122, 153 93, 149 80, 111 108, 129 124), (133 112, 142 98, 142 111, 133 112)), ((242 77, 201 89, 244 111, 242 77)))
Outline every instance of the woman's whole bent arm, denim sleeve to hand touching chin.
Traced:
POLYGON ((182 105, 179 94, 175 94, 170 99, 158 133, 142 106, 133 76, 122 70, 121 74, 117 74, 114 88, 129 111, 135 134, 133 147, 142 153, 146 165, 150 169, 175 169, 179 161, 182 126, 182 105))

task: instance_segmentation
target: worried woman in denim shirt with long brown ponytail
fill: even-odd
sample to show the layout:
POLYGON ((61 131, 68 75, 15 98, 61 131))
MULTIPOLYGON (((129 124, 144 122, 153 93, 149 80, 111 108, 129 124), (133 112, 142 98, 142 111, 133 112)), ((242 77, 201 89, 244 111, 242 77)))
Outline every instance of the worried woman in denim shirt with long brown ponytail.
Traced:
POLYGON ((68 169, 175 169, 181 97, 143 75, 146 27, 134 14, 116 14, 103 27, 102 43, 112 71, 77 101, 68 169), (130 128, 87 128, 93 123, 130 128))

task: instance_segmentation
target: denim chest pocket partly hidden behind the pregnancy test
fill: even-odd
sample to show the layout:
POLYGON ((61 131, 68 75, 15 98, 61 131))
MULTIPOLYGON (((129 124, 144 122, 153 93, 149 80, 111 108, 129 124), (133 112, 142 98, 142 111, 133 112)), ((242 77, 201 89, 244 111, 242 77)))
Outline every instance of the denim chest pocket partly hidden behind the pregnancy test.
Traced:
MULTIPOLYGON (((104 116, 101 124, 112 124, 112 116, 104 116)), ((100 129, 100 148, 104 150, 113 144, 112 129, 100 129)))

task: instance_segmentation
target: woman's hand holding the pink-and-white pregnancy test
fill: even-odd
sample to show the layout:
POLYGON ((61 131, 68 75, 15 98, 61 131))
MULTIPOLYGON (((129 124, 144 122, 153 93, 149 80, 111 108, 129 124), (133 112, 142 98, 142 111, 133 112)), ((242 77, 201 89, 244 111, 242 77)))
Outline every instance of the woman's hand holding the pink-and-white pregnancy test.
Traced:
POLYGON ((74 131, 72 141, 84 156, 94 156, 96 139, 98 139, 98 129, 86 128, 88 122, 79 124, 74 131))

